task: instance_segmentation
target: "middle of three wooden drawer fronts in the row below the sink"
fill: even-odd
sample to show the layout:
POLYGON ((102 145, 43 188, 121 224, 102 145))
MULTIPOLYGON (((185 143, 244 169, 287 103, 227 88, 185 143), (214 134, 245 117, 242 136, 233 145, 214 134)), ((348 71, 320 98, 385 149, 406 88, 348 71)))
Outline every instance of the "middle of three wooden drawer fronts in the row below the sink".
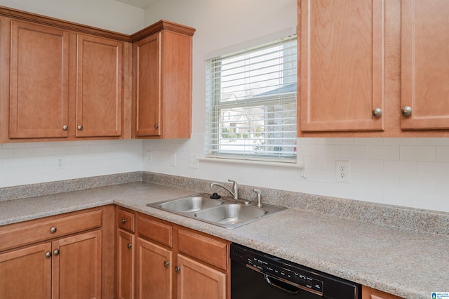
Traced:
POLYGON ((139 216, 138 231, 141 237, 159 242, 170 248, 173 246, 173 227, 171 225, 139 216))

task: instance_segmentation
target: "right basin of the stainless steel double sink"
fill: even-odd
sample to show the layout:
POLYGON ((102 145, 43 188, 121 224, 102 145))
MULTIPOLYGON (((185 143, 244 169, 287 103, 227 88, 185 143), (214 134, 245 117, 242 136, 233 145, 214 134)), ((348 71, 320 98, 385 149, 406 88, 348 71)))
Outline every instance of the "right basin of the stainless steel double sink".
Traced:
POLYGON ((268 211, 257 206, 244 206, 243 204, 226 204, 195 213, 196 218, 215 222, 220 225, 235 225, 239 222, 248 222, 267 214, 268 211))

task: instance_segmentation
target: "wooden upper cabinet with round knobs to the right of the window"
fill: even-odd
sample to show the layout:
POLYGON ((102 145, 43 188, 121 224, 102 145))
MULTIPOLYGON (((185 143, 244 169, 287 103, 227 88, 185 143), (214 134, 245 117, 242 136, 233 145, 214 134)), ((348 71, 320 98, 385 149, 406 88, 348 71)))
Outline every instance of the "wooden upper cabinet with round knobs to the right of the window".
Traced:
POLYGON ((449 136, 448 11, 444 0, 299 0, 298 136, 449 136))

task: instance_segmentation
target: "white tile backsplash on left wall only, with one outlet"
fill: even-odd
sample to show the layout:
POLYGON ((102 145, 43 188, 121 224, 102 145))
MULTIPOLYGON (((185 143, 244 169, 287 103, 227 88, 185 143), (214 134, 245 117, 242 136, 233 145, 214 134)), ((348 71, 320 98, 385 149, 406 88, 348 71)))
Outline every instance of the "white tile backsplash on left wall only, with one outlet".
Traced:
POLYGON ((0 187, 131 171, 142 171, 142 140, 0 144, 0 187))

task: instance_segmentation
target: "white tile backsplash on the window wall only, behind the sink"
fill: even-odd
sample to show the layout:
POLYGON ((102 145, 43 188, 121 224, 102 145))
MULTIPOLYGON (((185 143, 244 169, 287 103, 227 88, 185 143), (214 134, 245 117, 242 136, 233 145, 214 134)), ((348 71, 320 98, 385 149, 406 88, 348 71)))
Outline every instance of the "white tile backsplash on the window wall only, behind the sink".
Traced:
MULTIPOLYGON (((178 157, 194 152, 203 157, 202 136, 194 134, 192 140, 182 140, 177 145, 145 140, 143 152, 157 150, 161 156, 163 152, 177 152, 178 157)), ((168 166, 168 158, 145 162, 143 168, 206 180, 226 182, 232 178, 245 185, 449 211, 448 139, 299 138, 298 154, 304 157, 304 168, 294 170, 203 161, 199 161, 198 169, 188 168, 188 164, 173 168, 168 166), (335 182, 335 160, 350 161, 349 184, 335 182)))

